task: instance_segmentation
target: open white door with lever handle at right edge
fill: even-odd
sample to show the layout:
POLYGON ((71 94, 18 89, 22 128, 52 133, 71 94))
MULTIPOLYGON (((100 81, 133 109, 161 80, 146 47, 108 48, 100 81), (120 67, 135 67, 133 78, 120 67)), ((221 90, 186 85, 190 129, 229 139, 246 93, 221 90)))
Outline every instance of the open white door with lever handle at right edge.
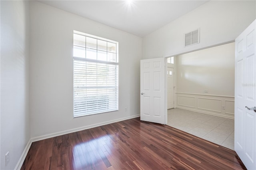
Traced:
POLYGON ((235 42, 235 151, 256 170, 256 21, 235 42))

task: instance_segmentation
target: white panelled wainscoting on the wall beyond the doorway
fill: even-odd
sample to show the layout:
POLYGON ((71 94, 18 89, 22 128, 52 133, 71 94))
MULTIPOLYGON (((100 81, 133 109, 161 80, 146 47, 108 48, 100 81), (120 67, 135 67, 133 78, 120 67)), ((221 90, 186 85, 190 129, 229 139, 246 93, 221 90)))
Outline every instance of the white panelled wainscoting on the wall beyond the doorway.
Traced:
POLYGON ((234 96, 176 92, 176 108, 234 119, 234 96))

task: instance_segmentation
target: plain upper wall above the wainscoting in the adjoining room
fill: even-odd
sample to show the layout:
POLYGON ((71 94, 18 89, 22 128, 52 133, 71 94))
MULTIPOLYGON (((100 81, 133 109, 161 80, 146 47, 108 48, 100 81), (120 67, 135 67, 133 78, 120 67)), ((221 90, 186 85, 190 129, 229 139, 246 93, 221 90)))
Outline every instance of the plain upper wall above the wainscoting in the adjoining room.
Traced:
POLYGON ((234 42, 177 56, 177 92, 234 96, 234 56, 234 42))

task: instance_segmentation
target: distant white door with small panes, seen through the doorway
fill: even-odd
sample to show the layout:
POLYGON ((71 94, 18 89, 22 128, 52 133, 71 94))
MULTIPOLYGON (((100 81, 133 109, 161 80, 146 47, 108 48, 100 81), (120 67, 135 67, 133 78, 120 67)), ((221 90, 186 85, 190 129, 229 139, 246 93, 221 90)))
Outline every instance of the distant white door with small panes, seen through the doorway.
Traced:
POLYGON ((167 68, 167 109, 174 108, 174 68, 167 68))

